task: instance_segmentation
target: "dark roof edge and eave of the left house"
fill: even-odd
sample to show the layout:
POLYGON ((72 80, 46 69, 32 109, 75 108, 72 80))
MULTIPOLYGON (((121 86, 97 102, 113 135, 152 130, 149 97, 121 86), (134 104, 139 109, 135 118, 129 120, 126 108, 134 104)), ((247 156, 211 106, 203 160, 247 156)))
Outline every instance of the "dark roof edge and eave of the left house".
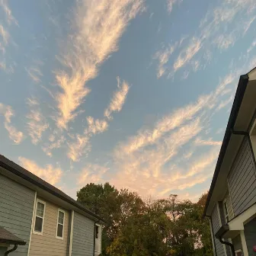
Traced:
POLYGON ((90 216, 93 216, 94 219, 104 222, 103 219, 101 219, 95 213, 91 212, 91 210, 88 210, 87 208, 85 208, 85 206, 83 206, 81 203, 78 203, 72 197, 69 197, 67 194, 62 192, 62 190, 59 190, 58 188, 54 187, 48 182, 43 181, 43 179, 39 178, 37 175, 31 173, 30 171, 27 171, 25 168, 12 162, 8 158, 5 158, 4 155, 0 155, 0 167, 1 166, 6 170, 10 171, 11 173, 17 175, 18 177, 23 178, 26 181, 29 181, 31 184, 34 184, 37 187, 40 187, 41 189, 46 190, 50 194, 53 194, 54 196, 58 197, 61 200, 66 201, 67 203, 70 203, 72 206, 77 207, 79 210, 82 210, 85 213, 88 213, 90 216))

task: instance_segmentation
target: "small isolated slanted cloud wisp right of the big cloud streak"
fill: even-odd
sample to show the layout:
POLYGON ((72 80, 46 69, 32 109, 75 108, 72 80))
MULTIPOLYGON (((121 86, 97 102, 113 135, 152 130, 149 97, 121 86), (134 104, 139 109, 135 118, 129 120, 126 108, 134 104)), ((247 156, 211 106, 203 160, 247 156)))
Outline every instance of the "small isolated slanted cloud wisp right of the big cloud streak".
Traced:
POLYGON ((113 112, 120 112, 123 108, 123 104, 126 101, 130 87, 126 81, 122 82, 120 85, 120 78, 117 77, 117 91, 114 92, 113 98, 110 101, 109 106, 104 110, 104 117, 111 119, 111 114, 113 112))

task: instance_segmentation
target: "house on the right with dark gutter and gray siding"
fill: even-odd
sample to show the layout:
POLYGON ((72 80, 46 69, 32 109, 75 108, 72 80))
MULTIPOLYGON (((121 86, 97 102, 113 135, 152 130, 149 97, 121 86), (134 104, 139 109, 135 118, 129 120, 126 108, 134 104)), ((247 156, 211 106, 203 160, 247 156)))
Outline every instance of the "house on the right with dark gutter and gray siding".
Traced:
POLYGON ((256 255, 256 68, 240 77, 204 216, 214 255, 256 255))

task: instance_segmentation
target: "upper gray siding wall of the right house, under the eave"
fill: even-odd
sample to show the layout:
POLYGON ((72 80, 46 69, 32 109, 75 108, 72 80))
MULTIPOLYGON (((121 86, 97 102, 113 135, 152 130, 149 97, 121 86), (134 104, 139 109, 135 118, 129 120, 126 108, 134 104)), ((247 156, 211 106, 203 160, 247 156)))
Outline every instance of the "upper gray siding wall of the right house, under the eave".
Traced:
POLYGON ((248 139, 242 142, 228 176, 234 215, 256 203, 256 172, 248 139))

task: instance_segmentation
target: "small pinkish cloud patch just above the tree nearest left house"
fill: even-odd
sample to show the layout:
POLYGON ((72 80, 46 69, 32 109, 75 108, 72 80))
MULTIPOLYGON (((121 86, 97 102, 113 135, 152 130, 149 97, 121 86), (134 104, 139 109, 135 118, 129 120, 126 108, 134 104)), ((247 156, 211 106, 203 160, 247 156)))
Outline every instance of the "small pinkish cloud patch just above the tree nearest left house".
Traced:
POLYGON ((83 168, 82 172, 79 174, 77 184, 80 186, 84 186, 85 184, 89 183, 103 183, 103 176, 108 170, 109 168, 102 165, 86 165, 85 168, 83 168))

